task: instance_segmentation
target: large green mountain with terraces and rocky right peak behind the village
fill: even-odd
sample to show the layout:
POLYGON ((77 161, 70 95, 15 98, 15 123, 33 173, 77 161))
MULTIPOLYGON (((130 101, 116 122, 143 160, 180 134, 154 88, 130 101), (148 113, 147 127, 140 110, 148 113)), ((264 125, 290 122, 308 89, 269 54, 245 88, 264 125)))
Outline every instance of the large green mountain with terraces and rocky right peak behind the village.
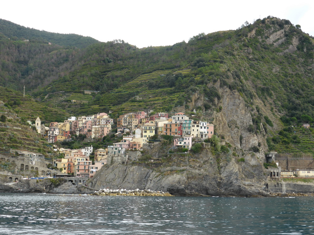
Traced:
POLYGON ((289 20, 267 17, 237 30, 142 49, 123 40, 85 48, 48 45, 35 36, 27 42, 23 35, 27 39, 34 29, 26 28, 25 34, 10 31, 10 38, 17 37, 12 40, 2 27, 0 84, 19 91, 25 85, 37 100, 77 115, 196 109, 232 144, 243 147, 248 132, 262 135, 265 149, 289 151, 300 147, 300 139, 288 127, 314 118, 313 38, 289 20), (56 91, 64 92, 46 98, 56 91), (246 124, 230 114, 237 99, 251 117, 246 124))

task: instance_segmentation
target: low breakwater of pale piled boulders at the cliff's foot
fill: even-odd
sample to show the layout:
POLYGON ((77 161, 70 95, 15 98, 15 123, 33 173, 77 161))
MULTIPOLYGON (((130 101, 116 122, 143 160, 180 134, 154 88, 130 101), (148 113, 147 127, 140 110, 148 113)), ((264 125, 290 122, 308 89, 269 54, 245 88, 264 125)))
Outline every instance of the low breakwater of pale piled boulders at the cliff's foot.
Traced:
POLYGON ((172 196, 168 192, 144 190, 126 190, 126 189, 100 189, 94 193, 88 194, 92 196, 172 196))

